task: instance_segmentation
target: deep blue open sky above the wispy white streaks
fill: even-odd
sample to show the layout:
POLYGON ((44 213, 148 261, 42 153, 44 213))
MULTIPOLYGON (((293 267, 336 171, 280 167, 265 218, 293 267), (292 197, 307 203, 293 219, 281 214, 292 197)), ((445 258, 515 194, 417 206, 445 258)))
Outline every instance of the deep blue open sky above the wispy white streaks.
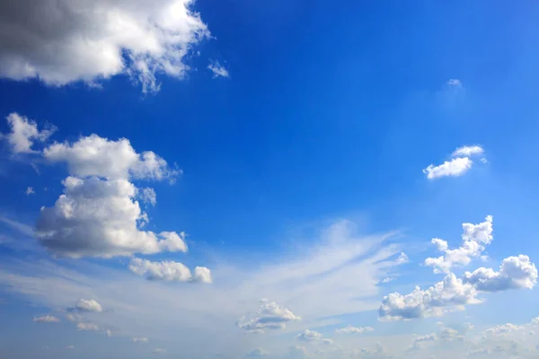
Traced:
MULTIPOLYGON (((409 293, 439 280, 419 266, 430 239, 458 246, 461 223, 486 215, 495 220, 490 267, 537 258, 539 4, 198 0, 194 8, 213 39, 186 58, 185 79, 160 75, 155 94, 122 74, 101 89, 2 79, 0 116, 54 124, 52 141, 125 137, 137 152, 177 163, 176 184, 152 185, 150 228, 188 232, 193 258, 210 248, 248 266, 250 254, 273 261, 290 241, 312 241, 305 232, 347 218, 361 234, 402 231, 413 265, 399 285, 409 293), (230 77, 212 78, 208 58, 230 77), (422 169, 466 144, 481 144, 489 163, 425 178, 422 169)), ((9 132, 5 121, 0 131, 9 132)), ((40 175, 3 149, 0 215, 33 226, 40 207, 54 204, 65 167, 38 163, 40 175), (36 194, 27 197, 29 186, 36 194)), ((0 256, 25 258, 2 247, 0 256)), ((518 320, 537 314, 523 301, 518 320)), ((486 305, 478 316, 496 324, 486 305)))

